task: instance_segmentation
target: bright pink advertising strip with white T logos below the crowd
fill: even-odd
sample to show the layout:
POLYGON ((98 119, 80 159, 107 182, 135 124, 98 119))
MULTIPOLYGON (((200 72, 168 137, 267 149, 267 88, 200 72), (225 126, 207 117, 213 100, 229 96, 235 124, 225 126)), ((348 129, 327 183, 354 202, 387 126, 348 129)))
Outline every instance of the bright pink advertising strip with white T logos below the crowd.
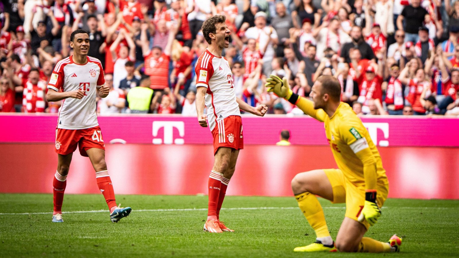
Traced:
MULTIPOLYGON (((104 141, 111 143, 208 144, 209 128, 195 117, 181 115, 99 116, 104 141)), ((362 118, 378 146, 459 147, 459 119, 446 117, 380 116, 362 118)), ((324 126, 308 116, 243 115, 244 144, 270 145, 282 129, 291 143, 327 145, 324 126)), ((0 115, 0 143, 54 143, 57 115, 0 115)))

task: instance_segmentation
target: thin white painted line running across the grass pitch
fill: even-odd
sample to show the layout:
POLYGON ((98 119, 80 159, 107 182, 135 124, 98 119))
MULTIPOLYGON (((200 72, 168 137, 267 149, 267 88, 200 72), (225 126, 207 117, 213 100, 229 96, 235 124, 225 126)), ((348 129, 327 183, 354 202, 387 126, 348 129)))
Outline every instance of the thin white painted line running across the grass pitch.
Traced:
MULTIPOLYGON (((387 209, 391 207, 382 207, 387 209)), ((394 209, 457 209, 456 207, 393 207, 394 209)), ((263 210, 263 209, 299 209, 298 207, 244 207, 244 208, 221 208, 222 210, 263 210)), ((323 209, 346 209, 346 207, 323 207, 323 209)), ((207 208, 193 209, 134 209, 134 212, 162 212, 162 211, 205 211, 207 208)), ((79 211, 63 211, 62 214, 73 213, 99 213, 107 212, 106 209, 100 210, 79 210, 79 211)), ((39 215, 53 214, 52 212, 25 212, 25 213, 0 213, 0 215, 39 215)))

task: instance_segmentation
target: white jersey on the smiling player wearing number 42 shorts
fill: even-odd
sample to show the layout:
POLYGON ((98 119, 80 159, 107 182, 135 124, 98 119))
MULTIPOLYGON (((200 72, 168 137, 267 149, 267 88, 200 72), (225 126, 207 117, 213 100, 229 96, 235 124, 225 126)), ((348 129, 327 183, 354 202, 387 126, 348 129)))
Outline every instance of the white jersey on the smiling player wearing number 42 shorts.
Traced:
POLYGON ((57 128, 86 129, 98 126, 95 112, 96 88, 105 84, 101 61, 88 56, 88 62, 78 65, 73 62, 73 55, 59 61, 51 74, 49 89, 62 92, 82 90, 82 99, 67 98, 59 108, 57 128))

